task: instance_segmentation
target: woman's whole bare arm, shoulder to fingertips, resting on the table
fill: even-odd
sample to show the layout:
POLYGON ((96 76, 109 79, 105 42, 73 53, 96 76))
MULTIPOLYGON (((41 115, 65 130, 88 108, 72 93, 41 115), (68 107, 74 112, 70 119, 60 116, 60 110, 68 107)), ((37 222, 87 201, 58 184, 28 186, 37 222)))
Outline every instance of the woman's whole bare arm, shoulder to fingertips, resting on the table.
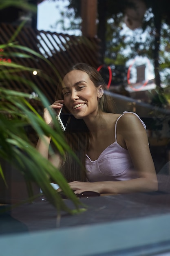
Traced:
POLYGON ((138 178, 127 181, 71 182, 75 193, 133 193, 157 191, 157 175, 148 146, 148 137, 141 121, 132 113, 126 113, 117 123, 117 142, 124 144, 132 159, 138 178))

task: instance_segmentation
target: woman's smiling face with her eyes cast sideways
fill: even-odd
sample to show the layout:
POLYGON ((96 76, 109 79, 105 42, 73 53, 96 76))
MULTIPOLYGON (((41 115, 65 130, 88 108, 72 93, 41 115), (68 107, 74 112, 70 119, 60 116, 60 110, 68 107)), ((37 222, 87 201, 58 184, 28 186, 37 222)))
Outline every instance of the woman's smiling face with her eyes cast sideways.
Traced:
POLYGON ((73 70, 66 74, 62 83, 64 105, 77 119, 96 116, 101 86, 95 87, 86 72, 73 70))

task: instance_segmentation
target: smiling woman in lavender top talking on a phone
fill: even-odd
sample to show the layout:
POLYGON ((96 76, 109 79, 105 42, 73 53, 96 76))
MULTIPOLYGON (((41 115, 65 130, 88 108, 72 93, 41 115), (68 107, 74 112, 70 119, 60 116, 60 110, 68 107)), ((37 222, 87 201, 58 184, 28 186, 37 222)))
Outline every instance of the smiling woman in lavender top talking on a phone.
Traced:
MULTIPOLYGON (((63 99, 51 108, 66 109, 82 120, 85 130, 66 132, 68 144, 79 157, 81 167, 70 155, 55 156, 59 167, 75 193, 132 193, 157 190, 157 176, 148 146, 146 126, 131 112, 113 113, 113 103, 104 81, 95 68, 85 63, 74 65, 62 81, 63 99)), ((51 115, 44 109, 44 120, 51 115)), ((50 138, 39 139, 38 150, 48 157, 50 138)))

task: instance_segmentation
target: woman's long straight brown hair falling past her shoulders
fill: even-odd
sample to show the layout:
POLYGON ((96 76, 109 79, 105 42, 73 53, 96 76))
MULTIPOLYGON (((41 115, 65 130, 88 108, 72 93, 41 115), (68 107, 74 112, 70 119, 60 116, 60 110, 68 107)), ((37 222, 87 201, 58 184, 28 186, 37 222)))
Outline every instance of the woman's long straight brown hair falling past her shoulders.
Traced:
MULTIPOLYGON (((98 87, 99 85, 103 86, 104 94, 98 101, 99 112, 114 113, 115 103, 110 97, 109 91, 107 90, 104 80, 99 72, 91 65, 88 65, 86 63, 77 63, 76 65, 73 65, 64 75, 68 74, 73 70, 80 70, 86 72, 91 81, 94 83, 95 87, 98 87)), ((59 86, 59 90, 60 92, 62 90, 61 83, 59 86)), ((90 141, 90 132, 83 119, 79 119, 78 122, 78 131, 73 128, 71 130, 66 130, 65 132, 68 145, 75 152, 81 163, 81 165, 78 164, 77 161, 70 154, 66 153, 66 157, 62 162, 61 171, 68 182, 75 180, 86 181, 85 159, 90 141)))

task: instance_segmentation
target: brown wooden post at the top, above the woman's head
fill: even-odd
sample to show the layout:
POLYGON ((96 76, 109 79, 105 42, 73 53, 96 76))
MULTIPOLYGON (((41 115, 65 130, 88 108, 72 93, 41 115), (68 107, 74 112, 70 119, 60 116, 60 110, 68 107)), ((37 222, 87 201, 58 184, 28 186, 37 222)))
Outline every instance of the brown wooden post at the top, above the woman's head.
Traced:
POLYGON ((97 34, 97 0, 81 0, 82 35, 94 38, 97 34))

